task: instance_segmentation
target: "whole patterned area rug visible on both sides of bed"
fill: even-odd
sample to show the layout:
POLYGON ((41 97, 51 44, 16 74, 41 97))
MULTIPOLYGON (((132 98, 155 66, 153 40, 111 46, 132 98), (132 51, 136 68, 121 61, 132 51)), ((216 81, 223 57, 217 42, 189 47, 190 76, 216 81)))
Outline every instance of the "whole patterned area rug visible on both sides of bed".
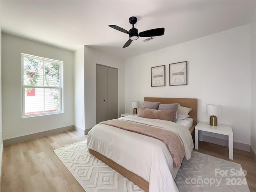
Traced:
MULTIPOLYGON (((91 155, 87 141, 54 150, 86 192, 144 192, 91 155)), ((240 164, 192 151, 175 182, 180 192, 250 192, 240 164)))

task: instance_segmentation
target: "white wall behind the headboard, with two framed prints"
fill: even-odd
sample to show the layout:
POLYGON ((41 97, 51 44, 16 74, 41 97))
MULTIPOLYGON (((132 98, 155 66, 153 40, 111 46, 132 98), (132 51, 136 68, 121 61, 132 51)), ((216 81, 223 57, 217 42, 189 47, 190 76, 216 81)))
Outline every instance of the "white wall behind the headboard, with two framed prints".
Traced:
MULTIPOLYGON (((206 104, 222 106, 218 123, 232 126, 234 142, 250 144, 250 24, 125 60, 125 109, 144 97, 198 98, 198 121, 209 121, 206 104), (188 61, 188 85, 169 86, 169 64, 188 61), (166 65, 166 86, 151 87, 150 68, 166 65)), ((226 139, 226 137, 224 137, 226 139)))

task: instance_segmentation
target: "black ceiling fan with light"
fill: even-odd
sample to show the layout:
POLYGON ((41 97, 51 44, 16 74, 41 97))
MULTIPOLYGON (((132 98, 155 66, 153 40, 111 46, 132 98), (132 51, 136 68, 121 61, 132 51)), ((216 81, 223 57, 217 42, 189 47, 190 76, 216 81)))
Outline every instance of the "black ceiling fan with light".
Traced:
POLYGON ((128 47, 133 40, 137 40, 140 37, 153 37, 153 36, 161 36, 164 34, 164 28, 156 28, 156 29, 150 29, 143 32, 138 33, 138 29, 134 28, 134 24, 136 24, 137 18, 136 17, 130 17, 129 23, 132 24, 132 28, 127 31, 121 27, 118 27, 116 25, 109 25, 113 29, 116 29, 118 31, 124 32, 126 34, 129 34, 129 40, 124 44, 123 48, 128 47))

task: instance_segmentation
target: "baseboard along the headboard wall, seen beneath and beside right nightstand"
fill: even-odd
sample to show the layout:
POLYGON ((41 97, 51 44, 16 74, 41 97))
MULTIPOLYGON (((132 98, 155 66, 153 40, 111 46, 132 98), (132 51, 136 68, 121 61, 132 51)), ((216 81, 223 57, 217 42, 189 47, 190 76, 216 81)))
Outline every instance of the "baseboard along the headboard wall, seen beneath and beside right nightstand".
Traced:
MULTIPOLYGON (((225 140, 225 139, 220 139, 220 138, 216 138, 216 137, 210 137, 210 136, 202 135, 202 140, 206 141, 206 142, 209 142, 209 143, 214 143, 214 144, 218 144, 218 145, 228 147, 228 140, 225 140)), ((239 150, 250 152, 250 145, 249 144, 233 142, 233 147, 234 147, 234 149, 239 149, 239 150)))

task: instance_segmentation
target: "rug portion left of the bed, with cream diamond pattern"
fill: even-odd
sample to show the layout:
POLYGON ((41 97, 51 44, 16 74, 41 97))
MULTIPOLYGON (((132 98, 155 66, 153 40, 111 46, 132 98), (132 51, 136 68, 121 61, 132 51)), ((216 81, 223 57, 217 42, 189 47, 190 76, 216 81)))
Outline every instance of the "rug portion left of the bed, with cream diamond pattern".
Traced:
POLYGON ((86 192, 144 192, 88 152, 87 141, 54 150, 86 192))

